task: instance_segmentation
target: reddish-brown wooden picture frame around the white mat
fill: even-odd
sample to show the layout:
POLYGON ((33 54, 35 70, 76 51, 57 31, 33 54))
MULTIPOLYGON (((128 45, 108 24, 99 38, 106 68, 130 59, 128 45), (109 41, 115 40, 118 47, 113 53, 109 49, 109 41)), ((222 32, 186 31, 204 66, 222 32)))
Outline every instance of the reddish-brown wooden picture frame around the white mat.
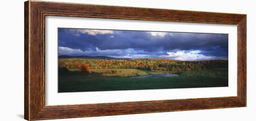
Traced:
POLYGON ((101 6, 29 0, 25 2, 25 119, 246 107, 246 14, 101 6), (45 17, 87 17, 237 25, 237 96, 124 103, 45 105, 45 17))

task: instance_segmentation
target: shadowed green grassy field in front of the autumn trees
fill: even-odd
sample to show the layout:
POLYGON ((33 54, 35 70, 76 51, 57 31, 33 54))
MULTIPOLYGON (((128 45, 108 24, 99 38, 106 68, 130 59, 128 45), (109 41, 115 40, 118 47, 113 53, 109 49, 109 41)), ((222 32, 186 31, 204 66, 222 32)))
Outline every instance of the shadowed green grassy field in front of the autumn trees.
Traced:
POLYGON ((97 69, 90 74, 59 75, 59 92, 120 91, 228 86, 228 68, 182 72, 144 71, 137 69, 97 69), (175 73, 175 77, 133 78, 140 75, 175 73))

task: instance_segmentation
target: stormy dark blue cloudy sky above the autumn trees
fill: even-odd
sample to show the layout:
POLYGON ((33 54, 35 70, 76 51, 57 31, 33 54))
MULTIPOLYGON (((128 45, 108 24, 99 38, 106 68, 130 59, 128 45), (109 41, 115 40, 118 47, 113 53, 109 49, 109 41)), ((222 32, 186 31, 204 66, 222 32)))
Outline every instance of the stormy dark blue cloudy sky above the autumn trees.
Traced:
POLYGON ((58 28, 59 55, 228 59, 228 34, 58 28))

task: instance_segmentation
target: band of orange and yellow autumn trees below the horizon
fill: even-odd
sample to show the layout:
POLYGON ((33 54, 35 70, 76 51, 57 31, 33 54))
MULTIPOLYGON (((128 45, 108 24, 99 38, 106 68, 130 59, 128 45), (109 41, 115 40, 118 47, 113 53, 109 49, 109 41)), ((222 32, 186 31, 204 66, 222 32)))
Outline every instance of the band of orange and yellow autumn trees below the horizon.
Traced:
POLYGON ((167 72, 181 72, 211 68, 227 68, 228 60, 181 61, 171 59, 131 59, 131 60, 96 60, 96 59, 59 59, 59 68, 79 69, 90 73, 90 69, 139 69, 167 72))

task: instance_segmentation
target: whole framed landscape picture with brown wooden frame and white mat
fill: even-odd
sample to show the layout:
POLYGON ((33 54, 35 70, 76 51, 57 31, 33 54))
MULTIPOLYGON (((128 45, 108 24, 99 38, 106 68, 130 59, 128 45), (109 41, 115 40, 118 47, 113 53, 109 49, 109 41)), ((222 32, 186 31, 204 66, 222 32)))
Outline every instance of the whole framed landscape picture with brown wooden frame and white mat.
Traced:
POLYGON ((246 107, 246 14, 25 2, 25 119, 246 107))

